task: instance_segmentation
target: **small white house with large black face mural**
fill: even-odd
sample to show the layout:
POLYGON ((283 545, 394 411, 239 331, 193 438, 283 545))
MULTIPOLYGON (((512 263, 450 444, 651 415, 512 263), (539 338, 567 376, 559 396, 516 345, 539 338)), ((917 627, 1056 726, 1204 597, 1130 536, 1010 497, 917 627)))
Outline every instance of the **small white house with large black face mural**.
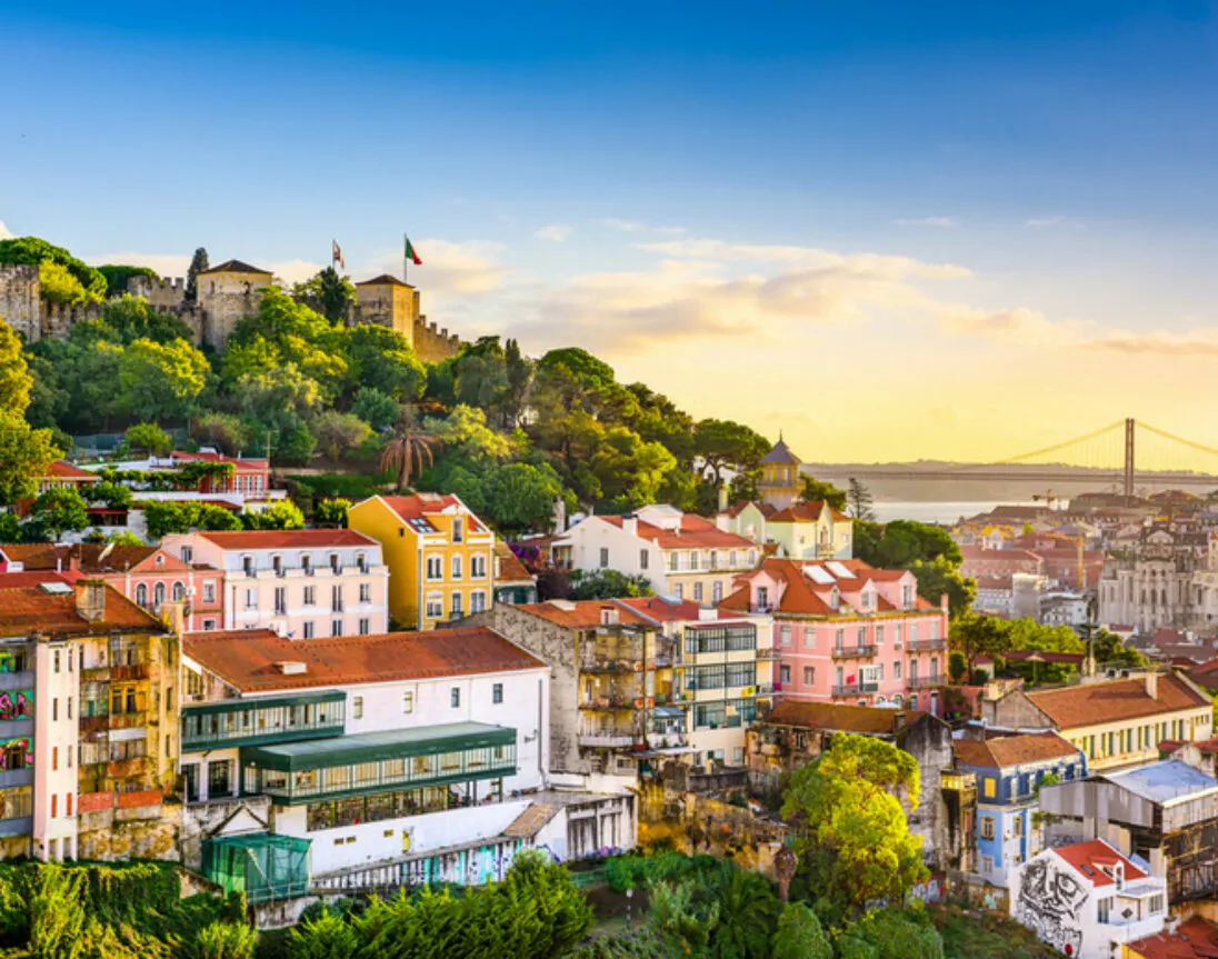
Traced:
POLYGON ((1011 872, 1011 915, 1077 959, 1112 959, 1167 916, 1167 883, 1104 840, 1045 849, 1011 872))

